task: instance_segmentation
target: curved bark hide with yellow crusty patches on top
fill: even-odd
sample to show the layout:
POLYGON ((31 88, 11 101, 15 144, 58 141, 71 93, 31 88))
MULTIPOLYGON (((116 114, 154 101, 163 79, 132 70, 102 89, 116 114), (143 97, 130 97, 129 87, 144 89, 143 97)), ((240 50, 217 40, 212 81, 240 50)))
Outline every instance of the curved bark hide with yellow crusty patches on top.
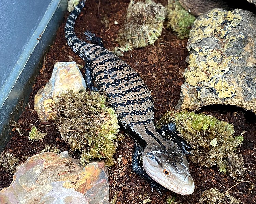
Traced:
POLYGON ((176 109, 228 104, 256 113, 255 17, 241 9, 214 9, 196 19, 176 109))

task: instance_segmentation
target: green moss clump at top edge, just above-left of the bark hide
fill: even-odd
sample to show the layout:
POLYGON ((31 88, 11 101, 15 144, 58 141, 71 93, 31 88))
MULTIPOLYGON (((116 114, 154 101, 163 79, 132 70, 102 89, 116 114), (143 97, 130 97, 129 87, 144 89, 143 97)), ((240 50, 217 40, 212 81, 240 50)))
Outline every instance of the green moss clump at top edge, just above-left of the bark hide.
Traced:
POLYGON ((189 31, 196 17, 186 11, 177 0, 168 0, 166 12, 167 28, 172 28, 180 39, 189 37, 189 31))

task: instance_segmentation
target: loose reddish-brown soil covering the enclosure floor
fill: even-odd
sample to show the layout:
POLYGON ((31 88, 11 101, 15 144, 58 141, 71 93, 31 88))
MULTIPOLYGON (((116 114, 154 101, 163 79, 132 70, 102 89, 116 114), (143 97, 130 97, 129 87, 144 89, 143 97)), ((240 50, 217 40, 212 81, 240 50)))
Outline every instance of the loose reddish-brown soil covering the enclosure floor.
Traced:
MULTIPOLYGON (((160 1, 166 5, 167 1, 160 1)), ((105 47, 112 50, 116 43, 116 37, 121 25, 124 22, 124 16, 129 0, 88 0, 80 17, 76 21, 75 31, 79 38, 85 40, 83 32, 90 30, 102 37, 105 47), (109 24, 105 26, 101 19, 107 18, 109 24), (118 24, 114 24, 117 21, 118 24)), ((67 14, 68 15, 68 14, 67 14)), ((66 15, 66 17, 67 17, 66 15)), ((6 147, 14 156, 18 157, 20 163, 24 162, 28 156, 39 153, 46 144, 58 146, 61 151, 70 148, 66 145, 56 127, 52 122, 42 123, 33 109, 35 93, 45 86, 51 77, 53 66, 58 61, 76 61, 84 65, 73 51, 67 46, 64 38, 64 23, 61 24, 56 40, 49 48, 42 62, 42 68, 38 74, 33 90, 29 97, 29 104, 26 106, 22 115, 20 115, 17 127, 20 127, 22 135, 13 128, 13 136, 6 147), (29 142, 28 134, 32 126, 37 126, 41 132, 47 132, 45 139, 39 142, 29 142)), ((186 50, 187 39, 179 40, 170 30, 163 30, 162 36, 156 41, 154 46, 148 46, 143 49, 136 49, 124 54, 121 57, 138 73, 146 82, 148 88, 152 90, 152 96, 155 100, 155 117, 160 119, 161 115, 173 109, 180 97, 180 86, 184 82, 182 73, 187 64, 185 58, 188 55, 186 50)), ((256 183, 256 117, 250 112, 246 112, 234 106, 211 106, 205 107, 200 112, 213 115, 220 120, 227 121, 234 125, 236 135, 246 130, 244 142, 239 147, 247 168, 245 181, 256 183)), ((119 142, 115 158, 122 155, 120 165, 116 164, 109 170, 110 183, 110 201, 114 195, 117 195, 117 204, 122 203, 142 203, 142 200, 150 197, 152 204, 167 203, 168 196, 175 196, 176 201, 185 204, 198 203, 202 192, 210 188, 217 188, 221 192, 228 191, 230 195, 239 197, 243 203, 255 203, 255 188, 249 182, 240 182, 233 180, 229 175, 219 174, 216 166, 212 168, 201 168, 199 165, 190 163, 190 172, 195 182, 195 192, 189 196, 177 195, 173 192, 151 193, 149 185, 134 174, 131 170, 131 155, 133 151, 133 141, 127 136, 124 141, 119 142), (236 185, 237 184, 237 185, 236 185), (236 185, 236 186, 234 186, 236 185)), ((0 167, 0 189, 10 185, 12 174, 7 173, 0 167)))

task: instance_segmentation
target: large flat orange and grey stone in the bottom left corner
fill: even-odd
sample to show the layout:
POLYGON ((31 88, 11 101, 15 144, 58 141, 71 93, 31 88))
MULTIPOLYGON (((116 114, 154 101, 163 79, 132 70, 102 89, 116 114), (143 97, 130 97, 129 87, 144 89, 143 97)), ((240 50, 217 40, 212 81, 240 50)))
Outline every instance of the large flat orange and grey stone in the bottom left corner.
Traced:
POLYGON ((0 191, 0 203, 109 203, 104 161, 84 168, 71 162, 68 152, 43 152, 17 167, 11 185, 0 191))

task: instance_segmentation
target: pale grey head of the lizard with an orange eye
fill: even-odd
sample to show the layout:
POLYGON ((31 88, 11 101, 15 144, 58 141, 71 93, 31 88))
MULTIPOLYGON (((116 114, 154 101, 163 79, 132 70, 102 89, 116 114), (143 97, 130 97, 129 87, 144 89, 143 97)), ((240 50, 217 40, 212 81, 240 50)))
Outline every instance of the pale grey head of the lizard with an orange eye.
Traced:
POLYGON ((169 149, 145 151, 143 167, 153 180, 175 193, 190 195, 194 192, 186 155, 173 142, 169 149))

